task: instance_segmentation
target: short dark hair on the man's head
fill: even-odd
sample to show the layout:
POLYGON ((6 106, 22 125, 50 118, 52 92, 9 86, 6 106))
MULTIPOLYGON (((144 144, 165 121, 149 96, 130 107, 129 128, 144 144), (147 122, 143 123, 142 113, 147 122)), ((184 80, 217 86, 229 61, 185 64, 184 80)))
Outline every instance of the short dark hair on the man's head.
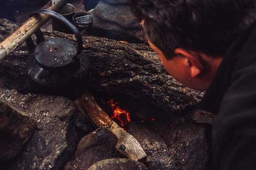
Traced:
POLYGON ((130 7, 167 59, 175 48, 223 55, 256 17, 256 0, 130 0, 130 7))

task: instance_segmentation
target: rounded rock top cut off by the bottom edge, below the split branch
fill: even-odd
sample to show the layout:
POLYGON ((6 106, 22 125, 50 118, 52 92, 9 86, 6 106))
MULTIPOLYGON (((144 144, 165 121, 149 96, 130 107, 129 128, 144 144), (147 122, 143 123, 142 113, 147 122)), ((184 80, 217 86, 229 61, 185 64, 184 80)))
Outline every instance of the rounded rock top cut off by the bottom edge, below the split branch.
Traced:
POLYGON ((125 158, 112 158, 94 163, 87 170, 148 170, 148 168, 139 161, 125 158))

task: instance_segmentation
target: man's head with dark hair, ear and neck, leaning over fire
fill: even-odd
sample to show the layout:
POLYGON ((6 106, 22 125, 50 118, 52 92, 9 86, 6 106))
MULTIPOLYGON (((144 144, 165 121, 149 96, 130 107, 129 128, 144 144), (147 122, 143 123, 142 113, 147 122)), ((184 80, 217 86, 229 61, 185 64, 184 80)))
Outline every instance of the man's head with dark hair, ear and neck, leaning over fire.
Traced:
POLYGON ((193 89, 208 88, 225 52, 256 16, 256 0, 130 0, 130 6, 166 70, 193 89), (183 75, 174 72, 177 63, 183 75))

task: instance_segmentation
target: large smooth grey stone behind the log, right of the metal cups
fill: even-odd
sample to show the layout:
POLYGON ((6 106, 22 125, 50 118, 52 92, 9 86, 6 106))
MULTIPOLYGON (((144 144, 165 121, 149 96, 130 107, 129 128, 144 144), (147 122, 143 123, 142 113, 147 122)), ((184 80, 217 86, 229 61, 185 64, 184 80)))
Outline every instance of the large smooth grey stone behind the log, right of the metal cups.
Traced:
POLYGON ((143 43, 141 26, 128 4, 110 4, 100 1, 88 11, 93 17, 90 35, 130 43, 143 43))

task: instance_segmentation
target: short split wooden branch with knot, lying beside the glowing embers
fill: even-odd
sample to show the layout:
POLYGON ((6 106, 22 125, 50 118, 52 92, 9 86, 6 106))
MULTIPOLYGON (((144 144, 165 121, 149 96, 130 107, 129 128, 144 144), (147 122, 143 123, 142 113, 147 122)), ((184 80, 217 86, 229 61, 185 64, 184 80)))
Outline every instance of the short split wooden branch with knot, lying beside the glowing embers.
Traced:
POLYGON ((135 161, 148 161, 147 155, 137 139, 121 129, 116 122, 112 121, 108 117, 108 114, 94 101, 93 96, 88 91, 78 100, 75 100, 74 103, 81 113, 87 116, 92 123, 96 124, 98 127, 110 129, 117 136, 118 141, 116 149, 119 150, 122 155, 135 161))

